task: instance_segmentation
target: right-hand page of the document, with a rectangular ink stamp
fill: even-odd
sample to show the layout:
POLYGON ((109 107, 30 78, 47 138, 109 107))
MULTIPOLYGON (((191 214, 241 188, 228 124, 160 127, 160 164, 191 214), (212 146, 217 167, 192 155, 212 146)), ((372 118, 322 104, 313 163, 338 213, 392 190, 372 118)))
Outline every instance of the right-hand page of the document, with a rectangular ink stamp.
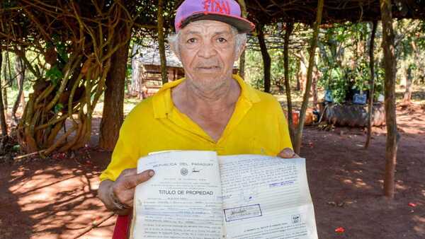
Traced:
POLYGON ((304 158, 219 161, 226 238, 317 238, 304 158))

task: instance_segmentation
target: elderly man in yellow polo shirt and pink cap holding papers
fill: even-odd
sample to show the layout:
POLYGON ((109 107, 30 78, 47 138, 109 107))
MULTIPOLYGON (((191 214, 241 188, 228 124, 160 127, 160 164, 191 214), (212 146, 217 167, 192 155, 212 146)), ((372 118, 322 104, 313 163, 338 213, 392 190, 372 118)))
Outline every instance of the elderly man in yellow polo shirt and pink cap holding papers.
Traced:
POLYGON ((233 0, 186 0, 176 13, 171 48, 186 78, 165 84, 125 119, 99 197, 117 214, 130 213, 135 187, 154 175, 136 172, 154 151, 207 150, 219 155, 295 156, 282 109, 272 95, 232 75, 254 24, 233 0))

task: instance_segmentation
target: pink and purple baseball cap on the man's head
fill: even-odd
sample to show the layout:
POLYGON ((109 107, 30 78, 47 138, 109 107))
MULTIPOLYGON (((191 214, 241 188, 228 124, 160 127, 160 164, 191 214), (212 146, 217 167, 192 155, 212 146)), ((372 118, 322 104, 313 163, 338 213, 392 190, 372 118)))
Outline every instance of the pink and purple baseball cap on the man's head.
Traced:
POLYGON ((188 23, 199 20, 214 20, 237 28, 239 33, 249 33, 255 25, 241 17, 241 7, 234 0, 185 0, 177 8, 174 27, 176 32, 188 23))

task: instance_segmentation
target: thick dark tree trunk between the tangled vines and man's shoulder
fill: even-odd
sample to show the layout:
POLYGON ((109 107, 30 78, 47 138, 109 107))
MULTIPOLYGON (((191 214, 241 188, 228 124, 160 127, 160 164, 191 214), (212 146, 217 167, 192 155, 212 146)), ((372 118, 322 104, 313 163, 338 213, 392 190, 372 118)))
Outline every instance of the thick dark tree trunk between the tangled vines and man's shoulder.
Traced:
POLYGON ((101 120, 99 146, 113 150, 124 121, 124 91, 130 40, 111 57, 114 66, 106 76, 105 102, 101 120))

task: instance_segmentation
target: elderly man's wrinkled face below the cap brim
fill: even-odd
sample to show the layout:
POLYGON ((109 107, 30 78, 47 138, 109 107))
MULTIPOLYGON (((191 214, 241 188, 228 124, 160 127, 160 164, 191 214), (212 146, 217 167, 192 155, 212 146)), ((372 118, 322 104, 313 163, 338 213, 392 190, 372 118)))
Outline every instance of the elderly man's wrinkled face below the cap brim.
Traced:
POLYGON ((179 49, 188 81, 214 91, 232 78, 237 52, 232 28, 219 21, 195 21, 181 30, 179 49))

